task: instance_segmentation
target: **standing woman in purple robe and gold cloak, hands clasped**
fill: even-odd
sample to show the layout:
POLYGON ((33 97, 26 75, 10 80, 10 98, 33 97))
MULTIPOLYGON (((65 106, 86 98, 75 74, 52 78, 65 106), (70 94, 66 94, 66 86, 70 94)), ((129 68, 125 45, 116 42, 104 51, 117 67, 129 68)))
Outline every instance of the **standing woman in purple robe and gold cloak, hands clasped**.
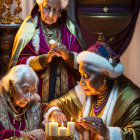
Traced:
POLYGON ((36 2, 16 35, 10 67, 31 66, 39 75, 38 93, 48 102, 75 86, 79 74, 74 60, 82 48, 74 24, 66 20, 68 0, 36 2))

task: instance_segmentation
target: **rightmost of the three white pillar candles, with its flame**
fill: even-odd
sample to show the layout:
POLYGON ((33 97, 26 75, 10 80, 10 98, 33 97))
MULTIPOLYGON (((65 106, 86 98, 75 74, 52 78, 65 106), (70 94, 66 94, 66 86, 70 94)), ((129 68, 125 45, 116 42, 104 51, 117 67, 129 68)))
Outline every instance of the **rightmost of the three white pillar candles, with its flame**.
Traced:
POLYGON ((72 122, 72 118, 71 118, 71 122, 67 123, 67 135, 71 136, 74 134, 75 131, 75 123, 72 122))

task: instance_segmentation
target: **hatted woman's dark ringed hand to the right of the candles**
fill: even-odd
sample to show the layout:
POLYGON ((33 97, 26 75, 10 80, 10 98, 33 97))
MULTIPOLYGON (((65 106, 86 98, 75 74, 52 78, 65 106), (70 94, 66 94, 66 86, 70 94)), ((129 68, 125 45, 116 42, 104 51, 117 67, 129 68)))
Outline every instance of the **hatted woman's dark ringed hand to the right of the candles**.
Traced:
POLYGON ((82 125, 85 129, 96 133, 102 137, 106 137, 108 128, 103 123, 102 118, 99 117, 85 117, 78 120, 78 123, 82 125))

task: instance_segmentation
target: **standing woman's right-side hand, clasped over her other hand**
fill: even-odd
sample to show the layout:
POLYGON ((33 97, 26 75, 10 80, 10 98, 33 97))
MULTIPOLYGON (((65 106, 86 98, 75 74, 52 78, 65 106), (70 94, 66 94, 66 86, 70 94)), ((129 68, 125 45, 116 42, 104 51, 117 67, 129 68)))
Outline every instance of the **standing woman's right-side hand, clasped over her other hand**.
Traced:
POLYGON ((69 59, 69 50, 66 48, 65 45, 57 42, 52 48, 51 51, 57 52, 56 56, 62 57, 64 60, 69 59))

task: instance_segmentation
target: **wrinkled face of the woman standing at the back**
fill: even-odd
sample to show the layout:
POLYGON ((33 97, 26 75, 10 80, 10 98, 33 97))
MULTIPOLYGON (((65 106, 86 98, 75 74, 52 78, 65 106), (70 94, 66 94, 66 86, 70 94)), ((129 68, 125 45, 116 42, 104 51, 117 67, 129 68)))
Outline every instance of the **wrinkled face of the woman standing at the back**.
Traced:
POLYGON ((45 0, 39 7, 41 19, 48 25, 56 23, 61 14, 60 0, 45 0))

